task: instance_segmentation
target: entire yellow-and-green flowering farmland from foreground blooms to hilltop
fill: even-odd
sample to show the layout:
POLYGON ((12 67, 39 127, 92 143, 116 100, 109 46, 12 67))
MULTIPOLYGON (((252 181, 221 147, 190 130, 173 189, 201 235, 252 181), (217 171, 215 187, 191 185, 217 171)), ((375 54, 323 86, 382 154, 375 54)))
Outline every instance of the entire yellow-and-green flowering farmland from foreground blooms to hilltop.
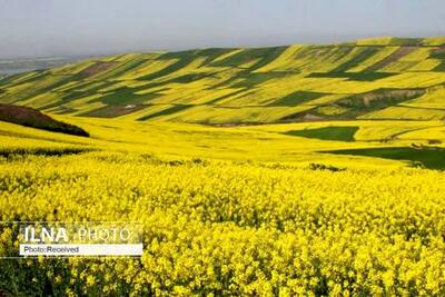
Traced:
POLYGON ((0 121, 1 221, 144 226, 141 258, 0 259, 0 296, 445 295, 445 38, 127 53, 0 102, 89 135, 0 121))

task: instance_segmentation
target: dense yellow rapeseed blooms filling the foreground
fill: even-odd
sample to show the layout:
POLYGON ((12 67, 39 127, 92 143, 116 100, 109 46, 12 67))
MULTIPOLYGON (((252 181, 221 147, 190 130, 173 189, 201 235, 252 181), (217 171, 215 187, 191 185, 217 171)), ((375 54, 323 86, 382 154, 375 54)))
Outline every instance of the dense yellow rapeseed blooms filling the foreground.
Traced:
POLYGON ((0 167, 1 220, 139 221, 145 246, 140 259, 0 260, 0 293, 445 295, 444 172, 117 152, 0 167))

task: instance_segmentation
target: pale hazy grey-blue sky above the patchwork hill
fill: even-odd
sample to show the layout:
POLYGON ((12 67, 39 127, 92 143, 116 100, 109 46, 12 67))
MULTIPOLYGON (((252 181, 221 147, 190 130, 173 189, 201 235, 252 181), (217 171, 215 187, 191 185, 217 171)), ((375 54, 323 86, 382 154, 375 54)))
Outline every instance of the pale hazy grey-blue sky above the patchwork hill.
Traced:
POLYGON ((444 0, 0 0, 0 59, 445 36, 444 0))

